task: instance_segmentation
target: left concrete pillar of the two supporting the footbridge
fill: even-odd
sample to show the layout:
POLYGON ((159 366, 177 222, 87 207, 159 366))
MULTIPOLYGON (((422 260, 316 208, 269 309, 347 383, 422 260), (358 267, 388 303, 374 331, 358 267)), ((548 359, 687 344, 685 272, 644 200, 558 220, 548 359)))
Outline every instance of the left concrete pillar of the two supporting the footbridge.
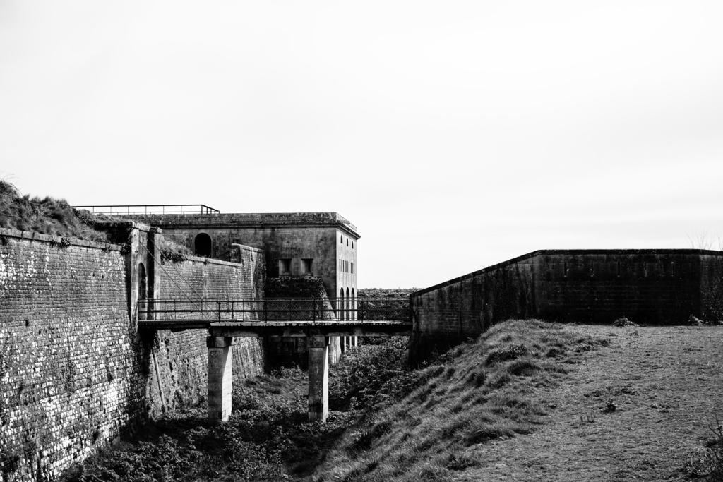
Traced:
POLYGON ((206 337, 208 346, 208 419, 228 421, 234 382, 233 337, 206 337))

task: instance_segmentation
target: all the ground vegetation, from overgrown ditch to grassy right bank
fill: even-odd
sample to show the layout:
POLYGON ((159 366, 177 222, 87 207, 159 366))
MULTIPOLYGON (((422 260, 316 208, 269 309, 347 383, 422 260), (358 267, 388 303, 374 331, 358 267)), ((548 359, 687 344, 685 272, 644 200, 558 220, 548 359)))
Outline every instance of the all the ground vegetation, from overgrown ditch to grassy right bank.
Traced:
POLYGON ((414 371, 403 340, 365 345, 332 368, 326 424, 307 374, 278 371, 236 387, 225 426, 171 414, 72 480, 693 480, 692 449, 723 455, 722 335, 509 321, 414 371))

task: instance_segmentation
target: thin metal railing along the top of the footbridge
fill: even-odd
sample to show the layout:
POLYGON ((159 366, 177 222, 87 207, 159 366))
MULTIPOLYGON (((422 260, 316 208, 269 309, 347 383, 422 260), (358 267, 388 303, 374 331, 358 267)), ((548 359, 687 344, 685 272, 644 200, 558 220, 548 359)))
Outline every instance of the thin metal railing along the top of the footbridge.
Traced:
POLYGON ((144 298, 137 313, 142 322, 411 322, 400 298, 144 298))

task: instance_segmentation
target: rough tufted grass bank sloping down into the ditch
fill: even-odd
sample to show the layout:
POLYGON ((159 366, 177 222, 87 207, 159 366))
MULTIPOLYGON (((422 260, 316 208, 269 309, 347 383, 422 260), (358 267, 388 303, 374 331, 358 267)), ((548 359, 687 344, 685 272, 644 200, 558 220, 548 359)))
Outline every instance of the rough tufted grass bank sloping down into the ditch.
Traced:
POLYGON ((421 386, 348 432, 314 478, 451 480, 483 464, 479 447, 539 429, 554 413, 542 390, 604 345, 559 324, 498 324, 424 369, 421 386))

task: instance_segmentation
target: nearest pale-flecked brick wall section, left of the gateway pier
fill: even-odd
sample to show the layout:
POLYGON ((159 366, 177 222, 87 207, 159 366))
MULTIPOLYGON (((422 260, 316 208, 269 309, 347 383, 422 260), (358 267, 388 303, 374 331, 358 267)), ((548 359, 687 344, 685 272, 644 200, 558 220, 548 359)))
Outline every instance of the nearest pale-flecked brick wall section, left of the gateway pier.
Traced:
POLYGON ((121 246, 0 230, 0 461, 54 478, 145 414, 121 246), (54 246, 56 244, 56 246, 54 246))

